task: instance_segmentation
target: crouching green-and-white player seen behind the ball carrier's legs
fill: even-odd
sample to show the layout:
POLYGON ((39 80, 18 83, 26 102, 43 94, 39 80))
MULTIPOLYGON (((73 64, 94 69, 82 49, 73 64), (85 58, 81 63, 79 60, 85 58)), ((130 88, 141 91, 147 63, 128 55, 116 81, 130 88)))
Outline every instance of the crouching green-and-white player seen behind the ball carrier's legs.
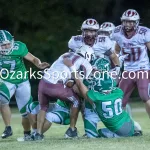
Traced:
MULTIPOLYGON (((45 122, 43 126, 42 133, 46 132, 52 125, 52 123, 57 123, 61 125, 69 125, 70 124, 70 104, 68 102, 63 102, 61 100, 57 100, 56 103, 50 104, 49 109, 46 112, 45 122)), ((38 101, 34 101, 27 105, 27 112, 31 114, 31 122, 35 127, 33 129, 33 133, 36 132, 37 125, 37 114, 40 111, 40 105, 38 101)))

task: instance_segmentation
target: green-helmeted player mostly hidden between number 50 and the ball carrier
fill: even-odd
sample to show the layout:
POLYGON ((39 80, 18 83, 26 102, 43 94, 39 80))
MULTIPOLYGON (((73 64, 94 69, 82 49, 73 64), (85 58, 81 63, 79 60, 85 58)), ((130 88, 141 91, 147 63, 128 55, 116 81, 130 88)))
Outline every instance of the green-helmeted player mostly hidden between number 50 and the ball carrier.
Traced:
MULTIPOLYGON (((95 70, 98 70, 99 73, 108 72, 110 70, 110 63, 109 60, 105 58, 98 58, 92 62, 92 67, 95 70)), ((89 90, 94 90, 94 85, 96 85, 96 81, 91 76, 90 79, 86 79, 83 82, 89 90)), ((97 124, 100 122, 100 118, 95 113, 95 111, 92 108, 92 105, 85 101, 85 108, 84 108, 84 129, 85 129, 85 135, 88 138, 98 138, 99 133, 97 131, 97 124)))

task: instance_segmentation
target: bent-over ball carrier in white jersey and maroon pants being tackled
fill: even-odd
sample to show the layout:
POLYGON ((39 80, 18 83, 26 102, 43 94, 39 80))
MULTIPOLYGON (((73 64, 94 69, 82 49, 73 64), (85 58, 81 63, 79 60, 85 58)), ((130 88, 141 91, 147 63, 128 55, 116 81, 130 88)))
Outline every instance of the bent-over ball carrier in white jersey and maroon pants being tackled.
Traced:
POLYGON ((70 127, 66 131, 66 136, 77 137, 75 127, 79 112, 79 97, 72 88, 66 86, 66 82, 71 79, 71 72, 63 63, 64 58, 70 58, 77 70, 82 70, 83 78, 87 78, 92 71, 89 63, 94 57, 93 49, 88 45, 81 46, 76 53, 68 52, 61 55, 52 66, 45 72, 43 79, 39 83, 39 103, 41 110, 37 121, 37 134, 35 140, 42 140, 42 127, 45 114, 51 99, 61 99, 72 103, 70 114, 70 127))

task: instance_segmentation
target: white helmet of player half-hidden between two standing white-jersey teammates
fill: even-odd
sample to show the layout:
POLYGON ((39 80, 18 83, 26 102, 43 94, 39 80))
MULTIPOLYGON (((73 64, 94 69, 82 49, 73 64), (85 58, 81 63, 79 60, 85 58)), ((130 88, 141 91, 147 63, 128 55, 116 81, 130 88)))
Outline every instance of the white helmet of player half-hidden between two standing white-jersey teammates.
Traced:
POLYGON ((110 34, 113 32, 115 29, 115 25, 111 22, 104 22, 101 24, 100 29, 99 29, 99 34, 104 34, 106 36, 110 36, 110 34))

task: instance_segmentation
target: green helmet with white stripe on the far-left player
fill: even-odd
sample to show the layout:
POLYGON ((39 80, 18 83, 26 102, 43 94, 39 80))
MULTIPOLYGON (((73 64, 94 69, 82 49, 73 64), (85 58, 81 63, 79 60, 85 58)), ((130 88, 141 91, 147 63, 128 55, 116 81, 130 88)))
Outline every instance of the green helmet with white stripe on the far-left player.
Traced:
POLYGON ((6 30, 0 30, 0 54, 8 55, 12 52, 14 46, 13 36, 6 30), (10 44, 9 48, 2 48, 3 45, 10 44))

